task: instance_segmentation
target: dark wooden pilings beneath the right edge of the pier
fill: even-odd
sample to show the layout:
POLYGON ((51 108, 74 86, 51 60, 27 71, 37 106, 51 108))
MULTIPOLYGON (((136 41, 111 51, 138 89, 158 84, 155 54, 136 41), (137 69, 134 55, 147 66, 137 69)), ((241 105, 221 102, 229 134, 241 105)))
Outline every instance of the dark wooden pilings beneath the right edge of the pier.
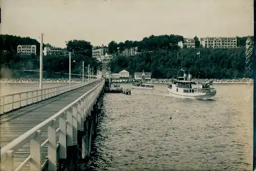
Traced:
POLYGON ((68 170, 78 170, 80 162, 88 161, 92 141, 97 134, 98 114, 102 107, 103 92, 102 90, 91 109, 87 109, 87 106, 81 105, 81 110, 87 111, 86 118, 84 118, 84 120, 81 119, 82 123, 78 124, 79 131, 77 131, 77 142, 72 139, 71 143, 71 137, 67 136, 67 142, 69 142, 67 144, 70 145, 67 147, 67 158, 59 160, 58 170, 65 170, 66 168, 68 170))

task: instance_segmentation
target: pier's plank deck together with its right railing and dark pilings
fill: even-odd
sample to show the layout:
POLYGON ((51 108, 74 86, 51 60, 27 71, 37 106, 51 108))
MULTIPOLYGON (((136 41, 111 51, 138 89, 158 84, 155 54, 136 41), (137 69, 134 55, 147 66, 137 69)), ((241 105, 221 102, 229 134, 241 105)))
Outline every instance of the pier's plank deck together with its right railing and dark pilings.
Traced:
POLYGON ((90 156, 103 87, 97 80, 2 115, 0 170, 78 170, 90 156))

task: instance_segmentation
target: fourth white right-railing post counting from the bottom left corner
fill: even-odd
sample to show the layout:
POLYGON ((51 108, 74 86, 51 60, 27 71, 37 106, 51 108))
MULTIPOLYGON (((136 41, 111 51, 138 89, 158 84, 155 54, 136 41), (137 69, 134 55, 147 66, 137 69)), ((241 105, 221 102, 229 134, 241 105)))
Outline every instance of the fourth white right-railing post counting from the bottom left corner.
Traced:
POLYGON ((67 126, 66 112, 61 114, 59 118, 59 158, 66 159, 67 157, 67 126))

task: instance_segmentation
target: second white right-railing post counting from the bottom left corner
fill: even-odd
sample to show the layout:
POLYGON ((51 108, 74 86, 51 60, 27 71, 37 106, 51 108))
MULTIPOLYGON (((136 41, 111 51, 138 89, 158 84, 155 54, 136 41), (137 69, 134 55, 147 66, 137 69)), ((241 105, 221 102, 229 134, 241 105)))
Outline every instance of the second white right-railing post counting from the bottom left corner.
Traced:
POLYGON ((30 140, 30 170, 41 170, 41 131, 36 131, 36 136, 30 140))

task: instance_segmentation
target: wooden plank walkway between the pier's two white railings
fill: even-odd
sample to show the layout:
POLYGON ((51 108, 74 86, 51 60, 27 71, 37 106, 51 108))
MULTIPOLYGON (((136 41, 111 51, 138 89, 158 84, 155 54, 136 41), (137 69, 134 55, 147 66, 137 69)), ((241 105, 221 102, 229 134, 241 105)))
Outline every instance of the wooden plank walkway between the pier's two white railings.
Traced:
MULTIPOLYGON (((93 89, 101 81, 95 82, 73 90, 71 92, 63 93, 59 96, 38 102, 16 111, 0 116, 0 146, 4 147, 20 135, 26 133, 37 124, 53 116, 65 106, 69 105, 84 93, 93 89)), ((58 127, 59 123, 57 123, 58 127)), ((42 142, 47 139, 47 129, 41 130, 42 142)), ((57 137, 58 141, 58 137, 57 137)), ((41 142, 41 143, 42 143, 41 142)), ((47 145, 41 149, 42 163, 47 156, 47 145)), ((16 168, 30 155, 30 144, 24 145, 14 154, 14 167, 16 168)), ((23 170, 28 170, 29 164, 23 170)))

